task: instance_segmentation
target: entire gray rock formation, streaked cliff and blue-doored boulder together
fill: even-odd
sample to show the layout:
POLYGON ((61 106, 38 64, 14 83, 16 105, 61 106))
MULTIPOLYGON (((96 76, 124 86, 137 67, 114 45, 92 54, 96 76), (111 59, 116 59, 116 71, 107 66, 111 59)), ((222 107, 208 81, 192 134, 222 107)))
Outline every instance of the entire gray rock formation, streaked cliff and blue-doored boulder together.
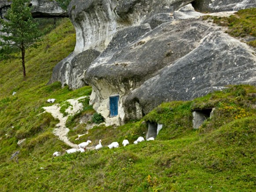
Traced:
POLYGON ((191 2, 211 12, 256 7, 249 0, 72 0, 77 44, 50 82, 91 85, 90 103, 109 124, 141 118, 164 101, 191 100, 230 84, 256 85, 255 52, 203 21, 191 2))

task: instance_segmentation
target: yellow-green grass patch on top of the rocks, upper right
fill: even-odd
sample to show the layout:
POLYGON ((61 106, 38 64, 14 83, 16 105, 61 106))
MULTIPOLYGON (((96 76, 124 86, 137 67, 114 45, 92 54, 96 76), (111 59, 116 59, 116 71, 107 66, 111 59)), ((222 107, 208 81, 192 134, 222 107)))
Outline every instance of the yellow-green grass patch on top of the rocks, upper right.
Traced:
MULTIPOLYGON (((249 8, 237 11, 230 17, 203 16, 203 19, 211 19, 219 26, 228 26, 227 33, 234 37, 246 37, 248 35, 256 37, 256 8, 249 8)), ((256 47, 256 40, 249 41, 247 44, 256 47)))

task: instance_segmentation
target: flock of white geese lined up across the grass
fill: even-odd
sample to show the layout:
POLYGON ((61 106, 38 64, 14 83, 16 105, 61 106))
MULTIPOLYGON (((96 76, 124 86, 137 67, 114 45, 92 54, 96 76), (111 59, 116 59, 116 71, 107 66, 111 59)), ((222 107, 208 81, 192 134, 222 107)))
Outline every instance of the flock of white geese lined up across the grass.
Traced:
MULTIPOLYGON (((147 139, 147 141, 150 141, 150 140, 155 140, 155 139, 154 139, 154 137, 150 137, 150 138, 147 139)), ((134 141, 134 144, 138 144, 138 143, 140 143, 140 142, 142 142, 142 141, 145 141, 145 139, 144 139, 143 137, 138 137, 137 140, 134 141)), ((85 152, 85 148, 86 148, 90 143, 92 143, 92 141, 87 140, 86 142, 82 142, 81 144, 78 144, 78 147, 79 147, 78 149, 71 148, 71 149, 66 150, 66 152, 67 152, 68 154, 70 154, 70 153, 75 153, 75 152, 81 152, 81 153, 82 153, 82 152, 85 152)), ((130 143, 129 143, 129 141, 128 141, 127 139, 125 139, 125 140, 122 141, 122 145, 123 145, 124 147, 125 147, 126 145, 128 145, 128 144, 130 144, 130 143)), ((118 147, 119 147, 119 143, 116 142, 116 141, 108 145, 108 148, 110 148, 110 149, 112 149, 112 148, 118 148, 118 147)), ((99 140, 99 144, 97 144, 97 145, 95 146, 95 149, 96 149, 96 150, 99 150, 99 149, 101 149, 101 148, 103 148, 103 146, 102 146, 102 144, 101 144, 101 139, 100 139, 100 140, 99 140)), ((59 151, 56 151, 56 152, 53 153, 53 156, 55 156, 55 157, 60 156, 60 155, 61 155, 61 153, 60 153, 59 151)))

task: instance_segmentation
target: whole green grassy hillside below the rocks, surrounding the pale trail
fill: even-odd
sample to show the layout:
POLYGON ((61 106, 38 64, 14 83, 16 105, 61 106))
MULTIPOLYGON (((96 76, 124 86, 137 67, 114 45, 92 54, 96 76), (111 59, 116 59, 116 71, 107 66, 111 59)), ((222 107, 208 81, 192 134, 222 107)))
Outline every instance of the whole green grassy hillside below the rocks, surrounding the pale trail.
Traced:
MULTIPOLYGON (((64 152, 68 146, 52 134, 57 121, 50 114, 37 114, 51 105, 45 103, 50 97, 64 102, 89 95, 91 89, 46 85, 52 67, 73 50, 74 30, 65 21, 44 38, 28 55, 26 80, 18 61, 0 63, 1 191, 255 191, 256 88, 251 86, 163 103, 141 121, 94 127, 81 139, 93 144, 102 139, 104 146, 124 138, 131 142, 145 135, 145 121, 151 121, 164 125, 155 141, 52 158, 54 151, 64 152), (216 108, 213 117, 193 130, 191 110, 209 107, 216 108), (25 137, 20 148, 17 141, 25 137), (9 159, 18 150, 19 163, 9 159)), ((85 131, 77 120, 93 112, 88 100, 84 102, 84 111, 70 119, 72 140, 85 131)))

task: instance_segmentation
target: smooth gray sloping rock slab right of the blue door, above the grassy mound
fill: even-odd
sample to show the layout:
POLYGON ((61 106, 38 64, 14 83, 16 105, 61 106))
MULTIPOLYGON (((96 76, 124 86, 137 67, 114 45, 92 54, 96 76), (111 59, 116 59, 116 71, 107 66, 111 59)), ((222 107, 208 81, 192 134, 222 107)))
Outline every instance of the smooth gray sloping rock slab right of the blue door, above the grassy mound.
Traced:
MULTIPOLYGON (((197 25, 190 23, 193 24, 197 25)), ((225 89, 226 85, 256 85, 255 52, 226 33, 211 30, 197 48, 132 91, 126 99, 126 104, 130 105, 127 108, 136 100, 143 112, 148 113, 164 101, 192 100, 225 89)))

